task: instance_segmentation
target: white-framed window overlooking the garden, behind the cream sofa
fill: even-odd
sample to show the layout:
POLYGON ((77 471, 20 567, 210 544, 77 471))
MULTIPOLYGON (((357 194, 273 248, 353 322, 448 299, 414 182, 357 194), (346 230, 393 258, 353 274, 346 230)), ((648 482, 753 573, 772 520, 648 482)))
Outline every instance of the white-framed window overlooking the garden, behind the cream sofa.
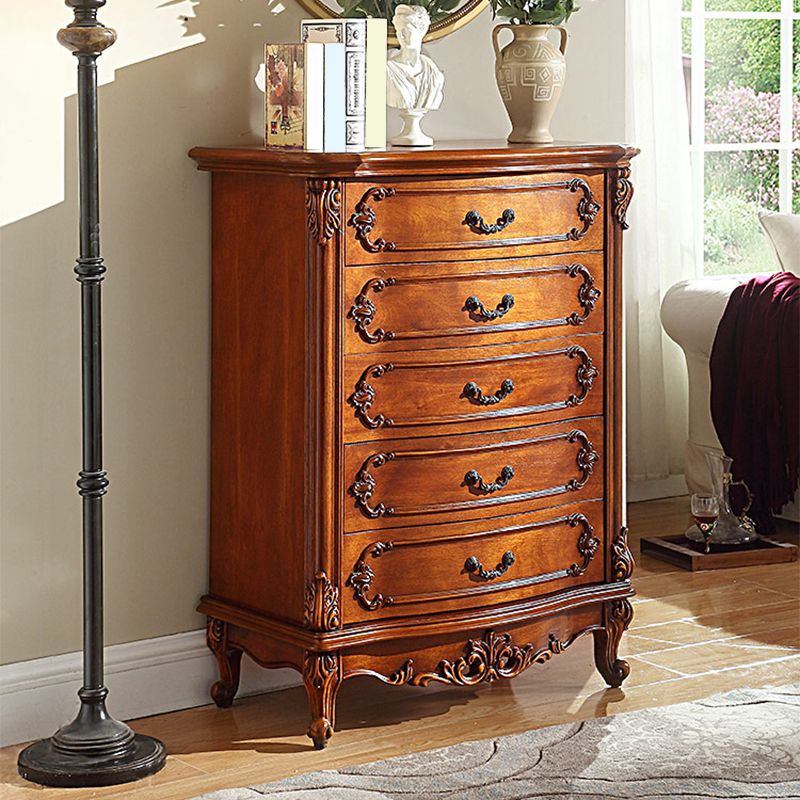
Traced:
POLYGON ((683 0, 698 272, 772 272, 765 209, 800 213, 800 0, 683 0))

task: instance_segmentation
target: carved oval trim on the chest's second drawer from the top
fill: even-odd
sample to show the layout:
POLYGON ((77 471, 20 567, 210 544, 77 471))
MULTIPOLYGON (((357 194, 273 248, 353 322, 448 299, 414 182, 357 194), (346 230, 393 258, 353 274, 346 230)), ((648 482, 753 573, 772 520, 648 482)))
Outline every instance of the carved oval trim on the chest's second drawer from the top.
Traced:
MULTIPOLYGON (((534 269, 522 270, 509 270, 503 272, 478 272, 470 275, 431 275, 427 277, 418 278, 402 278, 402 277, 388 277, 388 278, 372 278, 367 281, 361 291, 353 299, 347 317, 353 320, 356 333, 365 341, 370 344, 377 344, 383 341, 392 341, 400 339, 421 339, 431 336, 463 336, 467 334, 484 333, 488 331, 509 331, 509 330, 527 330, 530 328, 553 328, 560 325, 582 325, 594 311, 597 301, 600 299, 600 289, 595 285, 595 279, 588 268, 580 263, 572 264, 553 264, 547 267, 536 267, 534 269), (469 303, 474 297, 473 292, 468 289, 465 290, 464 306, 460 310, 464 312, 465 318, 469 319, 474 325, 465 325, 459 328, 431 328, 428 330, 414 330, 414 331, 387 331, 383 328, 372 328, 375 317, 378 315, 378 309, 371 295, 379 294, 386 291, 392 286, 401 286, 403 284, 418 284, 418 283, 454 283, 464 282, 469 283, 476 278, 489 278, 502 280, 506 278, 535 278, 543 275, 552 275, 553 273, 561 272, 569 278, 580 278, 581 283, 578 286, 577 299, 578 305, 581 308, 581 313, 572 311, 563 317, 555 317, 552 319, 536 319, 536 320, 521 320, 514 322, 513 319, 507 322, 492 324, 487 327, 486 322, 493 322, 494 317, 490 318, 475 312, 469 303), (484 323, 484 324, 481 324, 484 323)), ((487 302, 489 302, 487 300, 487 302)), ((513 303, 513 298, 512 298, 513 303)), ((503 314, 506 319, 513 317, 513 306, 503 314)))

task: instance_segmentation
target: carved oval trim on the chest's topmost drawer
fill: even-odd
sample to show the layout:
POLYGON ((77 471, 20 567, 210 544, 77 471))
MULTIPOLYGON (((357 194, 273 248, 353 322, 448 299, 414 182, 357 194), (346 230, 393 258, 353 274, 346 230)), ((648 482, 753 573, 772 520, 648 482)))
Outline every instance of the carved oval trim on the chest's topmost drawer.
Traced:
POLYGON ((551 242, 580 241, 586 236, 589 228, 594 224, 600 212, 600 204, 597 203, 592 194, 591 187, 583 178, 570 178, 562 181, 545 181, 542 183, 518 184, 508 186, 496 185, 472 185, 472 186, 425 186, 420 183, 400 184, 398 186, 371 186, 368 188, 361 199, 356 203, 355 209, 350 216, 347 224, 355 230, 356 240, 361 247, 368 253, 380 252, 406 252, 414 250, 474 250, 484 247, 497 247, 502 245, 518 246, 530 244, 549 244, 551 242), (482 219, 475 209, 465 208, 463 215, 458 220, 453 220, 453 224, 459 228, 465 226, 475 234, 474 239, 467 241, 452 240, 444 242, 419 241, 419 242, 394 242, 383 237, 372 239, 371 234, 378 221, 376 208, 373 203, 386 202, 398 195, 425 196, 425 195, 447 195, 447 196, 468 196, 476 194, 506 194, 517 195, 530 192, 552 192, 565 191, 577 196, 575 215, 581 223, 581 227, 571 227, 560 233, 544 234, 540 236, 519 236, 512 238, 497 237, 503 229, 514 221, 514 209, 509 208, 503 212, 502 220, 505 224, 485 226, 484 230, 477 221, 482 219))

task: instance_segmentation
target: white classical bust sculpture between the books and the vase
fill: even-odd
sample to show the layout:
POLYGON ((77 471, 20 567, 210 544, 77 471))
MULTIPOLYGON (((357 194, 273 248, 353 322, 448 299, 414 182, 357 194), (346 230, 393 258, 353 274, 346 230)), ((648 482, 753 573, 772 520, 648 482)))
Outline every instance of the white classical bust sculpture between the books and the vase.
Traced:
POLYGON ((420 121, 442 104, 444 75, 428 56, 422 54, 422 39, 431 20, 422 6, 399 5, 392 19, 400 49, 386 62, 386 103, 400 109, 403 130, 392 144, 422 147, 433 139, 422 132, 420 121))

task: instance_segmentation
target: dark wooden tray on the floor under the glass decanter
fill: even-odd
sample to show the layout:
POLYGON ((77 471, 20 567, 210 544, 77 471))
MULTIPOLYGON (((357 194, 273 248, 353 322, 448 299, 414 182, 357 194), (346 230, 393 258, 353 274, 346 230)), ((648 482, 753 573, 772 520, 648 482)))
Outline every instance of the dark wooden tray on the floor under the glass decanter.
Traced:
POLYGON ((646 555, 668 561, 692 572, 797 561, 797 545, 775 542, 771 539, 756 539, 750 544, 739 547, 712 545, 711 552, 705 553, 702 544, 690 542, 683 534, 653 536, 642 539, 640 549, 646 555))

